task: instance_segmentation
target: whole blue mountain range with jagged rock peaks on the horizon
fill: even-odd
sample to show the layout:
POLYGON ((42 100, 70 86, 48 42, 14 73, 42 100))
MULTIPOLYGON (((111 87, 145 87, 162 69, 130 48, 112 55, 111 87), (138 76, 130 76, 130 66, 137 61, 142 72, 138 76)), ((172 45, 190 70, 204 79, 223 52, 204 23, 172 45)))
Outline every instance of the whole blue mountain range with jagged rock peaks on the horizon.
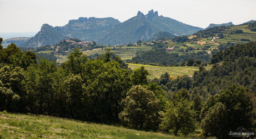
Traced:
POLYGON ((193 34, 202 28, 183 24, 169 17, 158 16, 157 11, 144 15, 138 11, 124 22, 108 18, 84 18, 69 20, 63 27, 52 27, 44 24, 41 30, 26 42, 23 47, 54 45, 67 38, 78 38, 83 41, 95 41, 98 44, 125 44, 137 40, 149 40, 159 31, 166 31, 179 36, 193 34))

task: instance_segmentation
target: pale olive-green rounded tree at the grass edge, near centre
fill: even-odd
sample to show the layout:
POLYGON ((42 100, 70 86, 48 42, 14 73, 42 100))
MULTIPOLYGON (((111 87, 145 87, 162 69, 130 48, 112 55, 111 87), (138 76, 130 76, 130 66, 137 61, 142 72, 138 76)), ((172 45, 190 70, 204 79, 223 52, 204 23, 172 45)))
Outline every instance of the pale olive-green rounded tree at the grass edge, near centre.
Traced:
POLYGON ((152 128, 159 122, 159 101, 154 93, 141 85, 133 86, 122 100, 124 110, 119 119, 135 128, 152 128))

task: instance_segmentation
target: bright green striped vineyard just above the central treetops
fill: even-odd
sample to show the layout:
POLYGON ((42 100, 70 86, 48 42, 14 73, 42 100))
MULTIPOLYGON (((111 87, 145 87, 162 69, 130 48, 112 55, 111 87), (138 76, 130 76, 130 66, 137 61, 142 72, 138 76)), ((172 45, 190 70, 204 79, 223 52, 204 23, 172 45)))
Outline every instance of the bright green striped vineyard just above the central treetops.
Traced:
MULTIPOLYGON (((194 74, 194 71, 198 71, 198 67, 160 67, 160 66, 151 66, 151 65, 141 65, 141 64, 131 64, 128 63, 128 67, 132 70, 144 66, 145 69, 149 71, 151 74, 148 76, 148 79, 154 79, 159 78, 161 74, 164 74, 165 72, 169 73, 170 76, 177 77, 177 75, 188 75, 192 76, 194 74)), ((206 69, 210 69, 211 67, 205 67, 206 69)))

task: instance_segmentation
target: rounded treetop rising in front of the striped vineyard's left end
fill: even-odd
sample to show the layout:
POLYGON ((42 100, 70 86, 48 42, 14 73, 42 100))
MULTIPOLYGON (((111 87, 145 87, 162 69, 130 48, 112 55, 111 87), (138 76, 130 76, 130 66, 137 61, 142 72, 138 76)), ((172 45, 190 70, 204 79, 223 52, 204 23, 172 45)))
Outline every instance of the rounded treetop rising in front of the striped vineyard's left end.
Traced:
POLYGON ((131 74, 131 82, 133 85, 147 85, 147 76, 150 73, 145 69, 144 66, 133 69, 133 73, 131 74))

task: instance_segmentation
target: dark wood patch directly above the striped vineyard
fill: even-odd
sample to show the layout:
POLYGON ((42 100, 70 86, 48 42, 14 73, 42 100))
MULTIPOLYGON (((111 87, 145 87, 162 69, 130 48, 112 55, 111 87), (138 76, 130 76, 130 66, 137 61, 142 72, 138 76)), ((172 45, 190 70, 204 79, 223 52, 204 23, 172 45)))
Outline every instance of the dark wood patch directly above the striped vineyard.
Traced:
POLYGON ((132 60, 126 60, 126 62, 136 62, 139 63, 160 63, 166 62, 167 65, 172 63, 180 64, 186 62, 189 59, 200 59, 202 63, 210 62, 211 55, 206 51, 199 52, 189 52, 184 54, 177 53, 167 53, 166 51, 146 51, 144 53, 138 54, 132 58, 132 60))

